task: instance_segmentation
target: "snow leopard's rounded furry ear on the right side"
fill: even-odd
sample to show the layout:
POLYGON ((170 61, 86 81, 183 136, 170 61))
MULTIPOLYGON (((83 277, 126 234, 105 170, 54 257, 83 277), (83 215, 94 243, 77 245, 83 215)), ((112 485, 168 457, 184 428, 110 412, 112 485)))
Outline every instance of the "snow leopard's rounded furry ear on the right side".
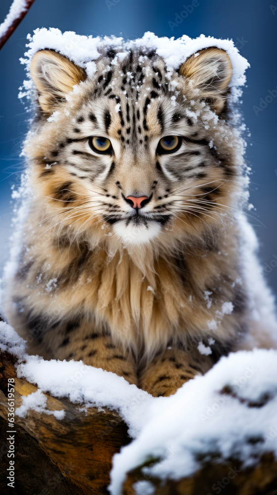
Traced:
POLYGON ((232 64, 225 50, 209 47, 191 55, 180 67, 179 74, 193 82, 201 99, 206 99, 220 114, 228 97, 232 64))

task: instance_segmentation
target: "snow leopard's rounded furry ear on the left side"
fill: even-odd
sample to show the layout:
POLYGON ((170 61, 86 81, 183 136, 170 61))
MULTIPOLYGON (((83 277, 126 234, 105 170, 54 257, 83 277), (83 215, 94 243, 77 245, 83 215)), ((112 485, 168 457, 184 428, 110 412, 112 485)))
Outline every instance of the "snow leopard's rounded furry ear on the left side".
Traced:
POLYGON ((30 72, 38 90, 39 104, 45 113, 56 110, 73 86, 87 77, 84 69, 53 50, 37 51, 30 72))

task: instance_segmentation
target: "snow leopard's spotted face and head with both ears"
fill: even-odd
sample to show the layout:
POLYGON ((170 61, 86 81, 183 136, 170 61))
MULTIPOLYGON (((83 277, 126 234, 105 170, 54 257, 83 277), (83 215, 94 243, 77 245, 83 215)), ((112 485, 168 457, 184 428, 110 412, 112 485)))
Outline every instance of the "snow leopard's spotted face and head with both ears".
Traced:
POLYGON ((169 245, 216 225, 238 174, 224 50, 203 49, 169 71, 155 51, 105 49, 90 77, 41 50, 31 74, 40 105, 27 148, 33 184, 63 235, 169 245))

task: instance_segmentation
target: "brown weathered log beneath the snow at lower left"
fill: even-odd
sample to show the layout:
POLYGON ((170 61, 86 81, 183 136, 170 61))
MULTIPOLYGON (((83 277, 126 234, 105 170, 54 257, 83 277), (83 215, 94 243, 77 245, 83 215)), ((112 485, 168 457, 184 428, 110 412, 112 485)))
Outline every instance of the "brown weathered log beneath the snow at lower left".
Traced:
MULTIPOLYGON (((0 354, 0 417, 3 418, 6 429, 9 407, 7 400, 8 379, 14 379, 16 408, 22 404, 24 396, 38 390, 27 380, 17 378, 16 361, 17 359, 11 354, 0 354)), ((76 495, 107 494, 106 487, 109 483, 112 457, 120 450, 121 446, 130 442, 127 425, 117 412, 108 408, 101 408, 98 411, 97 407, 88 407, 86 410, 82 410, 84 404, 74 404, 66 398, 57 399, 50 394, 44 394, 44 396, 47 400, 48 413, 29 409, 25 417, 15 415, 15 430, 20 427, 25 433, 25 444, 22 445, 21 443, 18 446, 23 451, 28 451, 31 439, 36 439, 40 450, 37 451, 36 458, 33 459, 33 468, 36 470, 36 466, 40 466, 42 463, 46 465, 46 454, 61 474, 59 493, 64 483, 73 483, 74 486, 77 485, 78 487, 76 491, 72 492, 76 495), (56 419, 51 414, 51 411, 59 410, 65 412, 63 419, 56 419)), ((16 439, 17 437, 15 443, 17 442, 16 439)), ((7 444, 7 442, 4 443, 7 444)), ((6 446, 3 447, 5 449, 6 446)), ((5 462, 8 463, 6 456, 5 462)), ((49 466, 46 467, 50 469, 49 466)), ((18 466, 15 476, 16 483, 22 491, 20 493, 24 492, 26 495, 31 495, 34 491, 29 492, 29 489, 24 485, 26 473, 23 468, 24 466, 18 466)), ((29 475, 34 476, 34 472, 32 471, 29 475)), ((38 476, 42 477, 43 473, 38 476)), ((56 492, 47 492, 47 494, 52 493, 56 492)))

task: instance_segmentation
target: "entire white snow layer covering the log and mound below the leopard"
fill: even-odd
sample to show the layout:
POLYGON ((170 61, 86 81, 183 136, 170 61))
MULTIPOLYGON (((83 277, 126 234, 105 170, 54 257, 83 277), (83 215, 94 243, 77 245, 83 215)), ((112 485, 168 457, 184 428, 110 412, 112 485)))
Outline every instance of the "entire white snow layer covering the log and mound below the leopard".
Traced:
MULTIPOLYGON (((209 345, 213 345, 213 340, 209 345)), ((28 409, 49 411, 48 392, 68 397, 86 409, 116 410, 133 440, 114 456, 110 493, 119 495, 126 473, 149 458, 159 459, 144 468, 146 476, 161 479, 191 475, 198 468, 197 454, 218 453, 245 466, 264 452, 277 456, 277 351, 254 349, 231 353, 205 375, 196 376, 170 397, 152 397, 113 373, 82 361, 45 361, 25 354, 23 340, 0 322, 0 350, 18 357, 17 375, 37 384, 38 391, 23 399, 16 414, 28 409), (250 407, 249 407, 250 405, 250 407)), ((150 483, 138 481, 137 494, 151 494, 150 483), (145 491, 143 492, 143 490, 145 491)))

